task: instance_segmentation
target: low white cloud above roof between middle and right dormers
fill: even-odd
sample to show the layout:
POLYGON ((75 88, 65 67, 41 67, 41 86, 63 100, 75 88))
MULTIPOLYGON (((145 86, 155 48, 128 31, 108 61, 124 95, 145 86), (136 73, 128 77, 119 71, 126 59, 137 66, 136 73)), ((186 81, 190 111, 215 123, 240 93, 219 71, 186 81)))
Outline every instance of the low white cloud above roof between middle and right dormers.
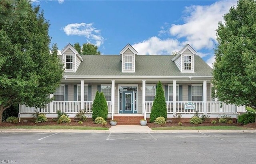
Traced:
POLYGON ((172 55, 172 52, 179 51, 182 47, 178 40, 166 39, 153 36, 148 40, 144 40, 132 45, 139 55, 172 55))

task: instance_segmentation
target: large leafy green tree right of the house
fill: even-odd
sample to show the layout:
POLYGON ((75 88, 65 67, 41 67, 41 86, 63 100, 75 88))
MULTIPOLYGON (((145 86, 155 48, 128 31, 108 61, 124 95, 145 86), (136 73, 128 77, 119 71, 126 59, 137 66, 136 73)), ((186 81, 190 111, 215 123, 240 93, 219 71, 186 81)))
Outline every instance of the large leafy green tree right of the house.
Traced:
POLYGON ((256 1, 239 0, 216 31, 212 83, 218 99, 256 109, 256 1))

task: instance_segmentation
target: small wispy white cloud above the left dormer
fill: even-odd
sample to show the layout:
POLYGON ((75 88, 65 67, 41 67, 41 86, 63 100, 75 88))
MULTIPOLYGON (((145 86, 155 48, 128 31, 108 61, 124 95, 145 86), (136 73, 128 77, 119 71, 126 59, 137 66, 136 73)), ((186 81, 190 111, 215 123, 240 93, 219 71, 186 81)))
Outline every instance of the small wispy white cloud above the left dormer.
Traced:
POLYGON ((84 36, 89 43, 95 44, 99 47, 103 44, 104 38, 100 35, 100 30, 96 30, 92 25, 93 23, 68 24, 63 28, 63 30, 68 36, 84 36))

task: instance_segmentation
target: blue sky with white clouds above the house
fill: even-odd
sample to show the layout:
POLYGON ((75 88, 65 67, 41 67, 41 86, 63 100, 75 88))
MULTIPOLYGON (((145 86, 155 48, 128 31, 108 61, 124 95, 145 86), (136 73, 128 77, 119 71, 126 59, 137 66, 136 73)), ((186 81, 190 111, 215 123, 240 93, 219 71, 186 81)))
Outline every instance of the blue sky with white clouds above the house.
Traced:
MULTIPOLYGON (((172 55, 190 44, 212 67, 216 29, 237 1, 33 0, 50 22, 52 43, 92 43, 118 55, 129 43, 138 55, 172 55)), ((51 44, 52 44, 51 43, 51 44)))

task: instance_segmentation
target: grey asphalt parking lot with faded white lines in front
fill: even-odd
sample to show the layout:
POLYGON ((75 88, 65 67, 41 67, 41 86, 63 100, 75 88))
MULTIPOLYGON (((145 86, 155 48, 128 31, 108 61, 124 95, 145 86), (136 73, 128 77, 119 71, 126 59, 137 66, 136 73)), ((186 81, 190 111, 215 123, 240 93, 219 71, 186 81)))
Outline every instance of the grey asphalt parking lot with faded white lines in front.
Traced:
POLYGON ((0 163, 255 164, 255 133, 0 133, 0 163))

